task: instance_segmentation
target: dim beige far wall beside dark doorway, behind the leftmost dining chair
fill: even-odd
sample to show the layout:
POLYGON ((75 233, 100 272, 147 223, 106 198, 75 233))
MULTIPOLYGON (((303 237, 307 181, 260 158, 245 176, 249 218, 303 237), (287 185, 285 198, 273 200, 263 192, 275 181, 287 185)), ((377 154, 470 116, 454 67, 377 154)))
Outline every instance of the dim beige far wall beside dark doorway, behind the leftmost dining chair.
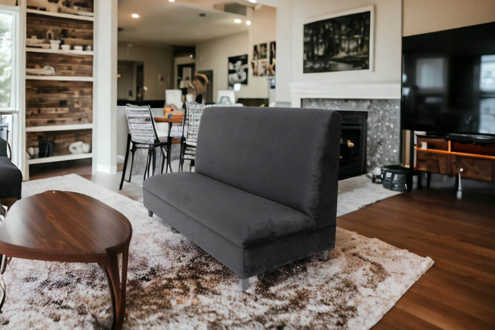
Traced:
POLYGON ((173 55, 170 47, 151 47, 127 43, 119 43, 118 59, 144 62, 144 84, 148 91, 144 92, 144 99, 164 99, 165 90, 172 86, 173 55), (158 74, 164 78, 158 80, 158 74))

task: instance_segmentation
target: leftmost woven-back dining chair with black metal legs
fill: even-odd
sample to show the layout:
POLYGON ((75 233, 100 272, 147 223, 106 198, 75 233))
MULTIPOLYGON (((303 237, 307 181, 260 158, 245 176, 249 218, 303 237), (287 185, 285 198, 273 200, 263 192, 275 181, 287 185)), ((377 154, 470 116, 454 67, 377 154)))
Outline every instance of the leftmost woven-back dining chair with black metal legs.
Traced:
MULTIPOLYGON (((159 148, 161 151, 161 171, 163 173, 163 167, 165 164, 168 164, 168 152, 170 150, 170 139, 168 137, 159 138, 156 129, 154 126, 153 116, 151 114, 151 109, 148 105, 139 106, 139 105, 126 105, 126 115, 127 115, 127 124, 129 126, 129 132, 127 136, 127 150, 124 159, 124 168, 122 171, 122 179, 120 181, 120 188, 122 190, 122 186, 125 182, 131 182, 132 175, 132 166, 134 164, 134 154, 138 149, 148 149, 148 156, 146 159, 146 167, 145 174, 143 180, 146 180, 146 175, 148 173, 149 178, 149 167, 152 167, 152 173, 155 172, 155 163, 156 163, 156 148, 159 148), (131 147, 132 144, 132 147, 131 147), (129 158, 129 151, 132 153, 131 158, 131 168, 129 171, 129 180, 125 180, 125 172, 127 168, 127 161, 129 158)), ((172 169, 170 169, 172 171, 172 169)), ((165 173, 168 172, 168 166, 165 173)))

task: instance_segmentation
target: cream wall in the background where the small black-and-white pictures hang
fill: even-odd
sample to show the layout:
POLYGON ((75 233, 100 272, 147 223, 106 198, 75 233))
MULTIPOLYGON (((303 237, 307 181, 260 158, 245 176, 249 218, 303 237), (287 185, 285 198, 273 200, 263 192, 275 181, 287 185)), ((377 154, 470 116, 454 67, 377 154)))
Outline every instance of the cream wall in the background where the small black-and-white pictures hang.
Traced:
MULTIPOLYGON (((247 85, 242 85, 236 97, 269 98, 267 77, 253 77, 251 68, 252 47, 276 40, 276 9, 262 6, 259 10, 249 10, 247 18, 251 25, 247 32, 208 40, 196 45, 196 70, 213 70, 213 100, 217 91, 228 89, 228 57, 248 55, 247 85)), ((244 24, 241 23, 241 24, 244 24)), ((277 45, 278 47, 278 45, 277 45)), ((277 66, 278 69, 278 48, 277 66)))

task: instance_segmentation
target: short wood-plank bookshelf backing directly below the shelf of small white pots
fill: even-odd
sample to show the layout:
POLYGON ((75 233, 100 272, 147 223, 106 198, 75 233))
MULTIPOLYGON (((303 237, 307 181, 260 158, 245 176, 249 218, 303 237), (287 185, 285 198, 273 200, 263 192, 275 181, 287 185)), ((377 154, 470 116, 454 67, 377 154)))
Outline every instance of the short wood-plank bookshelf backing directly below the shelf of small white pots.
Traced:
POLYGON ((93 76, 91 55, 26 52, 26 68, 42 68, 45 65, 52 66, 56 76, 93 76))

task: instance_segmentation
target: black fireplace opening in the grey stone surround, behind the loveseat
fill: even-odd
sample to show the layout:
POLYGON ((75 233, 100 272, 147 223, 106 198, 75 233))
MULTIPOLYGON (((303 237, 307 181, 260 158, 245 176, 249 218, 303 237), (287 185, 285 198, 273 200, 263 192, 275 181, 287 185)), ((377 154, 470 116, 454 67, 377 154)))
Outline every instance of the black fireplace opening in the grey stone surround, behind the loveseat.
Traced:
POLYGON ((342 114, 339 180, 366 173, 367 111, 339 111, 342 114))

